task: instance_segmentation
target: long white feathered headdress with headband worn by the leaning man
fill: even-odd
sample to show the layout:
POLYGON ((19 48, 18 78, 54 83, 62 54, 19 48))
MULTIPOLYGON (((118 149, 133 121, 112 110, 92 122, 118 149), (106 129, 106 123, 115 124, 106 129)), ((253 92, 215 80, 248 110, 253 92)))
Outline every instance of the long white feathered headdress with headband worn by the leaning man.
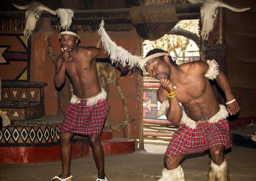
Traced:
POLYGON ((104 21, 102 20, 102 23, 99 25, 98 34, 102 41, 102 48, 105 52, 110 54, 112 62, 121 63, 123 66, 128 65, 129 68, 139 67, 141 70, 145 71, 145 65, 149 60, 164 55, 169 56, 166 52, 156 53, 145 58, 132 55, 124 48, 117 46, 116 43, 110 39, 103 26, 104 21))

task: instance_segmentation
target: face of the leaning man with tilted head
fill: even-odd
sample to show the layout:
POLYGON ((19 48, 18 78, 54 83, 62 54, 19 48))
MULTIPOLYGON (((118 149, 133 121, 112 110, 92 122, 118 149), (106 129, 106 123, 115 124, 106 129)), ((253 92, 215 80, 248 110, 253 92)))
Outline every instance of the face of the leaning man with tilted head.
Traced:
MULTIPOLYGON (((167 56, 165 56, 164 59, 166 59, 167 56)), ((169 58, 168 58, 169 59, 169 58)), ((170 68, 168 65, 167 60, 163 61, 159 57, 149 60, 146 65, 145 69, 146 71, 154 76, 156 79, 161 78, 170 78, 170 68)))

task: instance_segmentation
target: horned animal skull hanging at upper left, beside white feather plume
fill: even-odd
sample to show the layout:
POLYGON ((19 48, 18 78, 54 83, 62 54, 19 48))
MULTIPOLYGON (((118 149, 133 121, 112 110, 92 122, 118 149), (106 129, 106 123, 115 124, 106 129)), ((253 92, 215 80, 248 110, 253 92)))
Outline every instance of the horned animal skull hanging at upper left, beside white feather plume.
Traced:
POLYGON ((48 8, 47 6, 44 6, 42 3, 39 2, 32 2, 26 6, 19 6, 16 4, 13 4, 16 8, 20 10, 26 10, 26 26, 23 31, 24 37, 29 38, 31 31, 35 29, 35 25, 37 21, 39 20, 41 16, 42 11, 48 11, 51 14, 56 15, 56 12, 48 8))

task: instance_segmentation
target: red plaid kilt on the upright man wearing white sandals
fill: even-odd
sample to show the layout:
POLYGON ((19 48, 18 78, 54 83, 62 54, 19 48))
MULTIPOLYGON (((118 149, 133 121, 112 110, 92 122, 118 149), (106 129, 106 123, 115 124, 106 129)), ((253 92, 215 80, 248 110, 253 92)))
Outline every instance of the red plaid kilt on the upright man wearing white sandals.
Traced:
POLYGON ((61 132, 81 135, 101 134, 107 116, 106 100, 99 100, 93 106, 86 105, 87 100, 71 104, 64 116, 61 132))

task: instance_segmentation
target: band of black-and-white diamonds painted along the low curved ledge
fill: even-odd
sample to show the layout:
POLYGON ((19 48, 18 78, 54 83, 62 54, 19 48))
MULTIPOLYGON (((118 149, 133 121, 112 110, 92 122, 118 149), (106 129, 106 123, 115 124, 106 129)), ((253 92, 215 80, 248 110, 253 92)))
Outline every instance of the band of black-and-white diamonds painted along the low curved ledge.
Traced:
MULTIPOLYGON (((4 127, 0 130, 0 146, 52 146, 59 145, 60 127, 48 125, 41 127, 4 127), (43 143, 43 145, 42 145, 43 143)), ((72 142, 85 137, 75 135, 72 142)), ((86 138, 87 139, 87 138, 86 138)))

